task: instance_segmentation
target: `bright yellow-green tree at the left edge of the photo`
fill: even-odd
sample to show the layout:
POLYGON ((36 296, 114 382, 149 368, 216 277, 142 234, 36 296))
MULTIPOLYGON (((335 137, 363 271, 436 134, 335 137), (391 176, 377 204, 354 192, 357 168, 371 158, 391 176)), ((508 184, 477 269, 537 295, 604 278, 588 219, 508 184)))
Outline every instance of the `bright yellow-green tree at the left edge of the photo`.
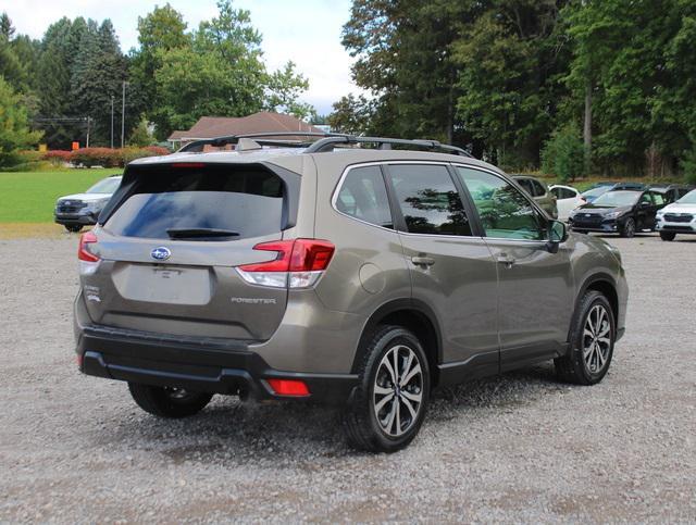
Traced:
POLYGON ((29 130, 22 97, 0 76, 0 167, 21 163, 20 150, 35 146, 40 138, 39 132, 29 130))

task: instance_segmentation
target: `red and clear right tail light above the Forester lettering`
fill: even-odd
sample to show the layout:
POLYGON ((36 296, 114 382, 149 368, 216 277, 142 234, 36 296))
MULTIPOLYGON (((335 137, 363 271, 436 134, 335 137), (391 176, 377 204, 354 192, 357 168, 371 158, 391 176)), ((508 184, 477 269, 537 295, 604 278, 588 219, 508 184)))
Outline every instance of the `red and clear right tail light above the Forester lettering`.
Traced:
POLYGON ((273 288, 309 288, 322 276, 335 247, 326 240, 295 239, 261 242, 254 250, 274 251, 272 261, 237 266, 247 283, 273 288))

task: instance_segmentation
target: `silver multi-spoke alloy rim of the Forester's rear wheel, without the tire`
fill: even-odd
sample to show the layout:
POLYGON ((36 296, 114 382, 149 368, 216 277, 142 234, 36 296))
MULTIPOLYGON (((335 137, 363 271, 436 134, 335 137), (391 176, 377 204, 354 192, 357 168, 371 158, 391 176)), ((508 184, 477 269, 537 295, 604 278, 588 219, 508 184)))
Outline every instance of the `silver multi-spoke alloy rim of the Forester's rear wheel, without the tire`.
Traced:
POLYGON ((380 362, 373 390, 372 407, 382 430, 391 437, 406 434, 423 404, 423 370, 417 353, 405 345, 390 348, 380 362))

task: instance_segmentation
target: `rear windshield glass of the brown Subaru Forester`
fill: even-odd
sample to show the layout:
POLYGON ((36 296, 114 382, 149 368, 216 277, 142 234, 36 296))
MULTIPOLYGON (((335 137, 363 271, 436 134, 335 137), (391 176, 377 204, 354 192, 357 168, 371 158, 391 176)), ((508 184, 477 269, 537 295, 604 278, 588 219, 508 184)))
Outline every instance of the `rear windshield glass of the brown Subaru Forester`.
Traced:
POLYGON ((263 168, 215 166, 144 170, 104 229, 126 237, 237 240, 281 232, 285 184, 263 168), (181 230, 198 230, 182 236, 181 230), (217 235, 206 236, 204 232, 217 235), (227 232, 228 236, 220 235, 227 232))

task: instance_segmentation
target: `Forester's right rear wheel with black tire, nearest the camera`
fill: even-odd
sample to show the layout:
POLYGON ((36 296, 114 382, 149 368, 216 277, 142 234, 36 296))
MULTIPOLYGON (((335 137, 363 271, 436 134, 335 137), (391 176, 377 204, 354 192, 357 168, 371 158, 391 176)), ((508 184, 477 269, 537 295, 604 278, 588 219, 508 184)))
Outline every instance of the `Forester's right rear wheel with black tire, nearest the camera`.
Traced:
POLYGON ((370 452, 405 448, 423 423, 430 390, 430 366, 419 339, 400 326, 378 327, 364 348, 359 385, 344 412, 349 442, 370 452))

